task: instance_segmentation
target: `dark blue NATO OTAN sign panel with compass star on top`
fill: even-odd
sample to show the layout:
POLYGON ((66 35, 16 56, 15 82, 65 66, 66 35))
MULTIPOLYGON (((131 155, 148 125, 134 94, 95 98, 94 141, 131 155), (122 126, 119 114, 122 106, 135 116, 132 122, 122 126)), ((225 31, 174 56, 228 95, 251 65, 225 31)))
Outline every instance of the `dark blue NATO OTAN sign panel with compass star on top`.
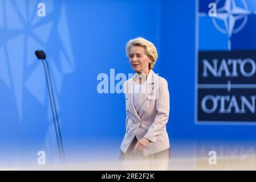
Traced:
POLYGON ((256 2, 198 0, 196 7, 196 122, 256 122, 256 2))

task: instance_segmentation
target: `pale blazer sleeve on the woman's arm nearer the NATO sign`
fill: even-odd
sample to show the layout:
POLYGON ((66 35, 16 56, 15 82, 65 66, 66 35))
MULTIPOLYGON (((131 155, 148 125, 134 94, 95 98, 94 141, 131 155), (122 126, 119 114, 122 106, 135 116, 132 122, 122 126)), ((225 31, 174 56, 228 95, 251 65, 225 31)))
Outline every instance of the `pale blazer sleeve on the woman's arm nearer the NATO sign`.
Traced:
POLYGON ((160 135, 169 119, 170 101, 168 83, 164 78, 160 83, 158 97, 156 98, 157 114, 154 122, 144 136, 153 143, 156 142, 157 137, 160 135))

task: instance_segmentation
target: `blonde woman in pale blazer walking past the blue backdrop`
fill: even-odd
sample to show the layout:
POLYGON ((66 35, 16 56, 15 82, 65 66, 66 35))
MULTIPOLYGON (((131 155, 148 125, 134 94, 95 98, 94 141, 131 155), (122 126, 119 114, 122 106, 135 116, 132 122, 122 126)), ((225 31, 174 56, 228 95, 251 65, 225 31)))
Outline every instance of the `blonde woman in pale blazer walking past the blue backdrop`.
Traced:
POLYGON ((152 71, 156 47, 144 38, 131 39, 126 54, 136 74, 124 83, 127 118, 120 159, 125 169, 167 169, 169 91, 167 81, 152 71))

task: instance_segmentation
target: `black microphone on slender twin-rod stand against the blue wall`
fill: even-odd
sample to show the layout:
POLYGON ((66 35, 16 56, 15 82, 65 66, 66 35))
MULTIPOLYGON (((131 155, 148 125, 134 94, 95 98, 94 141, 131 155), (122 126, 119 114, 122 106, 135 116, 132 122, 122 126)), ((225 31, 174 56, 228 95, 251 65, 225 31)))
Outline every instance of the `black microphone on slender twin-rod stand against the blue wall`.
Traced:
POLYGON ((42 50, 40 51, 36 50, 35 55, 38 59, 42 60, 42 63, 43 63, 44 74, 46 76, 48 94, 49 94, 50 104, 51 104, 51 113, 52 113, 52 118, 54 120, 54 129, 55 129, 56 139, 57 139, 58 148, 59 148, 60 160, 63 163, 65 163, 66 159, 65 159, 64 148, 62 143, 62 135, 60 133, 60 128, 59 128, 59 118, 58 118, 58 113, 57 113, 56 104, 55 104, 54 91, 52 89, 49 65, 46 61, 46 54, 42 50))

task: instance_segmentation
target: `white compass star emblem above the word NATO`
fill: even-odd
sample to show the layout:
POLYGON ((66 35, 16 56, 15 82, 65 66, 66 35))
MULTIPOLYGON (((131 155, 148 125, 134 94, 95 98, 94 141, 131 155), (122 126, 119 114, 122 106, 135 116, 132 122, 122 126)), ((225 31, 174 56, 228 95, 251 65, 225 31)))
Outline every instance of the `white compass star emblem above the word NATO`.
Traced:
MULTIPOLYGON (((227 34, 229 36, 228 49, 231 50, 231 36, 241 31, 248 19, 248 15, 253 14, 253 12, 248 10, 246 2, 244 0, 239 0, 242 2, 243 7, 238 7, 235 0, 226 0, 223 7, 217 9, 217 15, 213 16, 213 24, 218 31, 227 34), (217 19, 224 23, 224 27, 217 23, 217 19), (241 23, 237 23, 238 20, 242 20, 241 23)), ((220 0, 215 3, 218 6, 220 0)))

